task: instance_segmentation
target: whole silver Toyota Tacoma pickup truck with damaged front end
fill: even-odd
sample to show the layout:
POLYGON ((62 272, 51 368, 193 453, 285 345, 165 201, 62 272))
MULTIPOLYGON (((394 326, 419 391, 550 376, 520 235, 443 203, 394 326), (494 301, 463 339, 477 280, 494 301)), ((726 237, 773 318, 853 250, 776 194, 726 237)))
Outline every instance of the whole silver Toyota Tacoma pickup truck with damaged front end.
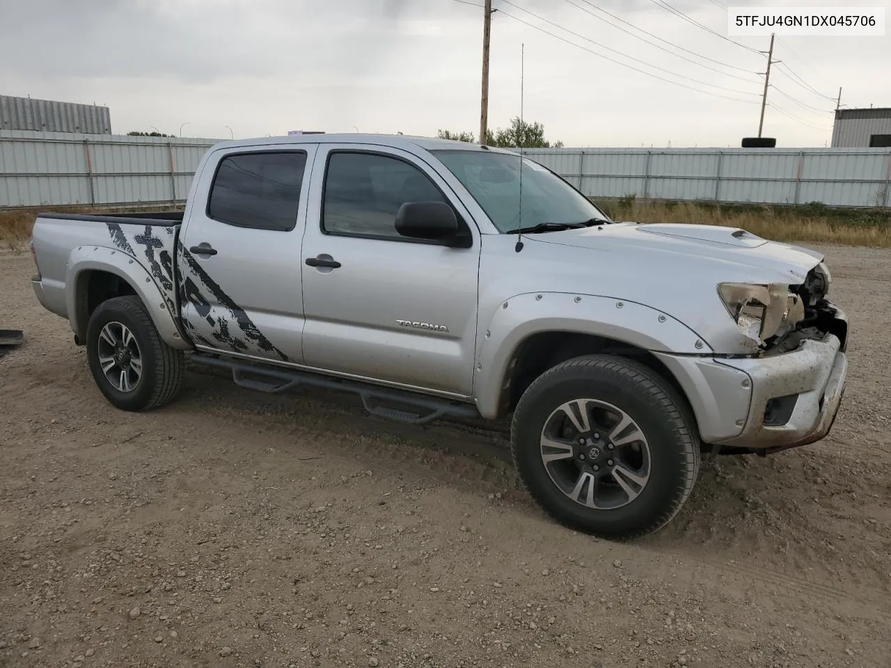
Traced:
POLYGON ((665 525, 703 450, 829 432, 847 320, 819 253, 616 223, 485 146, 314 134, 220 143, 184 213, 37 218, 34 291, 127 411, 185 355, 242 387, 361 395, 382 417, 511 415, 528 492, 608 537, 665 525))

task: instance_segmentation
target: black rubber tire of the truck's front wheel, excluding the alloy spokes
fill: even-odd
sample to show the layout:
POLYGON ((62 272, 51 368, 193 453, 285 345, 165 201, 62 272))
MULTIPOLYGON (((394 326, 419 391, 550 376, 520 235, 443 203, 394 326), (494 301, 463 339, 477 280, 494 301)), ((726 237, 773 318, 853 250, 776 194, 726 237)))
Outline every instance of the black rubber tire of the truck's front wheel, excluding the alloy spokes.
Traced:
MULTIPOLYGON (((602 409, 603 404, 598 403, 574 405, 585 405, 586 412, 591 410, 588 406, 593 406, 593 410, 607 410, 602 409)), ((573 422, 563 420, 562 424, 573 422)), ((591 424, 593 432, 593 420, 591 424)), ((628 539, 650 534, 666 525, 690 495, 699 474, 699 437, 694 427, 683 400, 658 374, 640 363, 622 357, 586 355, 545 371, 527 388, 514 411, 511 451, 519 477, 528 493, 558 522, 604 538, 628 539), (560 424, 559 421, 553 422, 555 418, 552 416, 558 416, 556 419, 559 420, 561 413, 557 411, 560 407, 579 399, 603 402, 624 411, 627 417, 634 420, 635 426, 645 438, 645 442, 621 446, 633 447, 638 451, 645 447, 648 454, 646 483, 633 500, 630 493, 625 493, 628 501, 621 507, 593 509, 583 505, 581 501, 573 501, 570 498, 571 493, 562 491, 554 481, 554 468, 548 468, 554 467, 554 463, 544 463, 543 430, 551 429, 549 425, 560 424)), ((569 429, 571 431, 572 427, 569 429)), ((599 441, 600 448, 587 452, 601 452, 600 457, 605 456, 602 453, 604 447, 610 448, 607 453, 609 456, 615 456, 612 452, 619 452, 613 450, 617 446, 611 444, 608 436, 591 436, 605 438, 609 445, 603 446, 603 442, 599 441)), ((581 470, 593 461, 590 454, 586 462, 579 461, 579 458, 584 459, 583 451, 589 445, 580 445, 576 450, 575 437, 568 440, 573 441, 573 455, 567 460, 562 460, 561 457, 560 470, 567 471, 567 475, 571 476, 574 475, 572 467, 576 467, 579 468, 581 477, 581 470)), ((566 456, 568 455, 564 455, 566 456)), ((605 471, 614 463, 609 460, 610 467, 606 467, 603 460, 598 461, 601 463, 600 474, 586 475, 604 476, 605 471)), ((618 460, 616 463, 619 463, 618 460)), ((608 492, 612 489, 614 493, 624 489, 617 485, 615 478, 609 477, 609 474, 606 476, 600 478, 607 481, 603 489, 608 492)), ((581 488, 581 493, 587 493, 586 485, 594 487, 593 482, 586 483, 581 488)), ((564 489, 565 487, 564 485, 564 489)), ((596 489, 600 490, 601 487, 596 489)), ((573 492, 575 491, 574 489, 573 492)), ((638 492, 637 489, 634 491, 638 492)), ((622 493, 624 492, 618 492, 622 493)), ((580 493, 575 493, 575 496, 577 499, 580 493)), ((590 498, 585 497, 584 500, 590 498)))

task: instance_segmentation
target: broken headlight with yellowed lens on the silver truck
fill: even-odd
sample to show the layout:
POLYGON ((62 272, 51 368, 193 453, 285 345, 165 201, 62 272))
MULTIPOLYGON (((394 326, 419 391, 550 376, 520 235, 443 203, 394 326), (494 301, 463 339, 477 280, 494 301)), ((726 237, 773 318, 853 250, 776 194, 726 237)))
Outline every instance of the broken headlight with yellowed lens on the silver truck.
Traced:
POLYGON ((805 305, 788 285, 721 283, 718 295, 740 332, 759 346, 805 317, 805 305))

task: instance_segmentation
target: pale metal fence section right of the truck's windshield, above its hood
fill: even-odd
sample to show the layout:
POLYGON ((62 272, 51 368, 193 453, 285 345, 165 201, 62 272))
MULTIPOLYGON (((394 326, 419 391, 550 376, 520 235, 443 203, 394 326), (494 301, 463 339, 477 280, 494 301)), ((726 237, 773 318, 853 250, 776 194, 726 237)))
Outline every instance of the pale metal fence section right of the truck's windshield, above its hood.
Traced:
POLYGON ((594 198, 891 207, 888 149, 527 149, 594 198))

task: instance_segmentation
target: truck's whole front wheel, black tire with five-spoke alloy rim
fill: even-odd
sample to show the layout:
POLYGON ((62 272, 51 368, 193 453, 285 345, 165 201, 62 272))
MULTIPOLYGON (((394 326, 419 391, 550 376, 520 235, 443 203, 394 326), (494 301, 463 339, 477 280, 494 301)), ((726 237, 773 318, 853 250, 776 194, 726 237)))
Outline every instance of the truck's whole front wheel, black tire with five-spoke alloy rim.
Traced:
POLYGON ((552 517, 607 538, 666 525, 699 473, 699 439, 674 389, 609 355, 568 360, 536 379, 514 411, 511 450, 552 517))

